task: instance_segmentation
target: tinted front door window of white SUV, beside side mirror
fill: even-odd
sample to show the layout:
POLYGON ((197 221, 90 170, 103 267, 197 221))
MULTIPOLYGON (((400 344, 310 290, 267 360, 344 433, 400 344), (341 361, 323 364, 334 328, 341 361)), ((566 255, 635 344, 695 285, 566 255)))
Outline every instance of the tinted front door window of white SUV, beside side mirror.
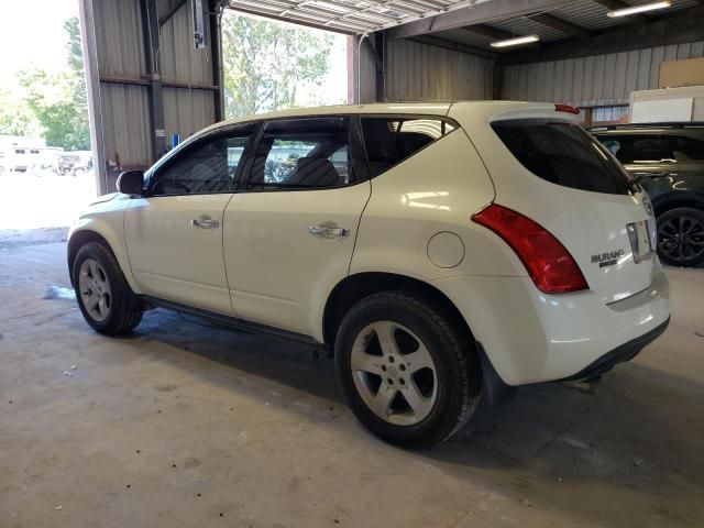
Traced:
POLYGON ((200 141, 157 169, 152 195, 229 193, 253 125, 200 141))

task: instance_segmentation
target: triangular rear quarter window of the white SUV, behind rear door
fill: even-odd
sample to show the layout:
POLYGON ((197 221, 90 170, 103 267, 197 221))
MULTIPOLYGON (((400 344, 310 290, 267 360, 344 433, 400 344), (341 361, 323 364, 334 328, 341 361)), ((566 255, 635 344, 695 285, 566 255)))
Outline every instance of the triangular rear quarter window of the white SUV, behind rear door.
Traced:
POLYGON ((455 129, 441 119, 362 118, 372 176, 382 174, 455 129))

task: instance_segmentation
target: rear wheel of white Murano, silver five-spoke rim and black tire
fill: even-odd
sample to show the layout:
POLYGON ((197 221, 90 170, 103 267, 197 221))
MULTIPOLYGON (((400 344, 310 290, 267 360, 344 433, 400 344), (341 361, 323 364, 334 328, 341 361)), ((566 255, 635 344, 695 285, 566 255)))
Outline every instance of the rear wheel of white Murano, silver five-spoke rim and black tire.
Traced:
POLYGON ((338 380, 355 417, 408 449, 435 446, 460 430, 479 404, 482 383, 476 350, 460 328, 431 302, 404 292, 356 302, 334 344, 338 380))

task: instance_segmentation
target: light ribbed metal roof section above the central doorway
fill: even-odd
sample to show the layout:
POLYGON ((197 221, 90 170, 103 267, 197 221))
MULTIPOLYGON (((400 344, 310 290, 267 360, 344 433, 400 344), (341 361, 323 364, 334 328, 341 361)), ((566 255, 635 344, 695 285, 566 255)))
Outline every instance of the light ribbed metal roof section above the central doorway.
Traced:
POLYGON ((231 9, 365 33, 490 0, 230 0, 231 9))

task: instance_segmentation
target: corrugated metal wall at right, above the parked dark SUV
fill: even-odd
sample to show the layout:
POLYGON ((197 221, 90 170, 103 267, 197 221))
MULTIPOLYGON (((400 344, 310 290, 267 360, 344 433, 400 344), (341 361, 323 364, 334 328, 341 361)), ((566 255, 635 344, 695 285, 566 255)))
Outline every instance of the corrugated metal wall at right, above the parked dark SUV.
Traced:
POLYGON ((704 56, 704 42, 503 68, 502 98, 569 102, 582 107, 628 105, 630 92, 658 87, 660 63, 704 56))

